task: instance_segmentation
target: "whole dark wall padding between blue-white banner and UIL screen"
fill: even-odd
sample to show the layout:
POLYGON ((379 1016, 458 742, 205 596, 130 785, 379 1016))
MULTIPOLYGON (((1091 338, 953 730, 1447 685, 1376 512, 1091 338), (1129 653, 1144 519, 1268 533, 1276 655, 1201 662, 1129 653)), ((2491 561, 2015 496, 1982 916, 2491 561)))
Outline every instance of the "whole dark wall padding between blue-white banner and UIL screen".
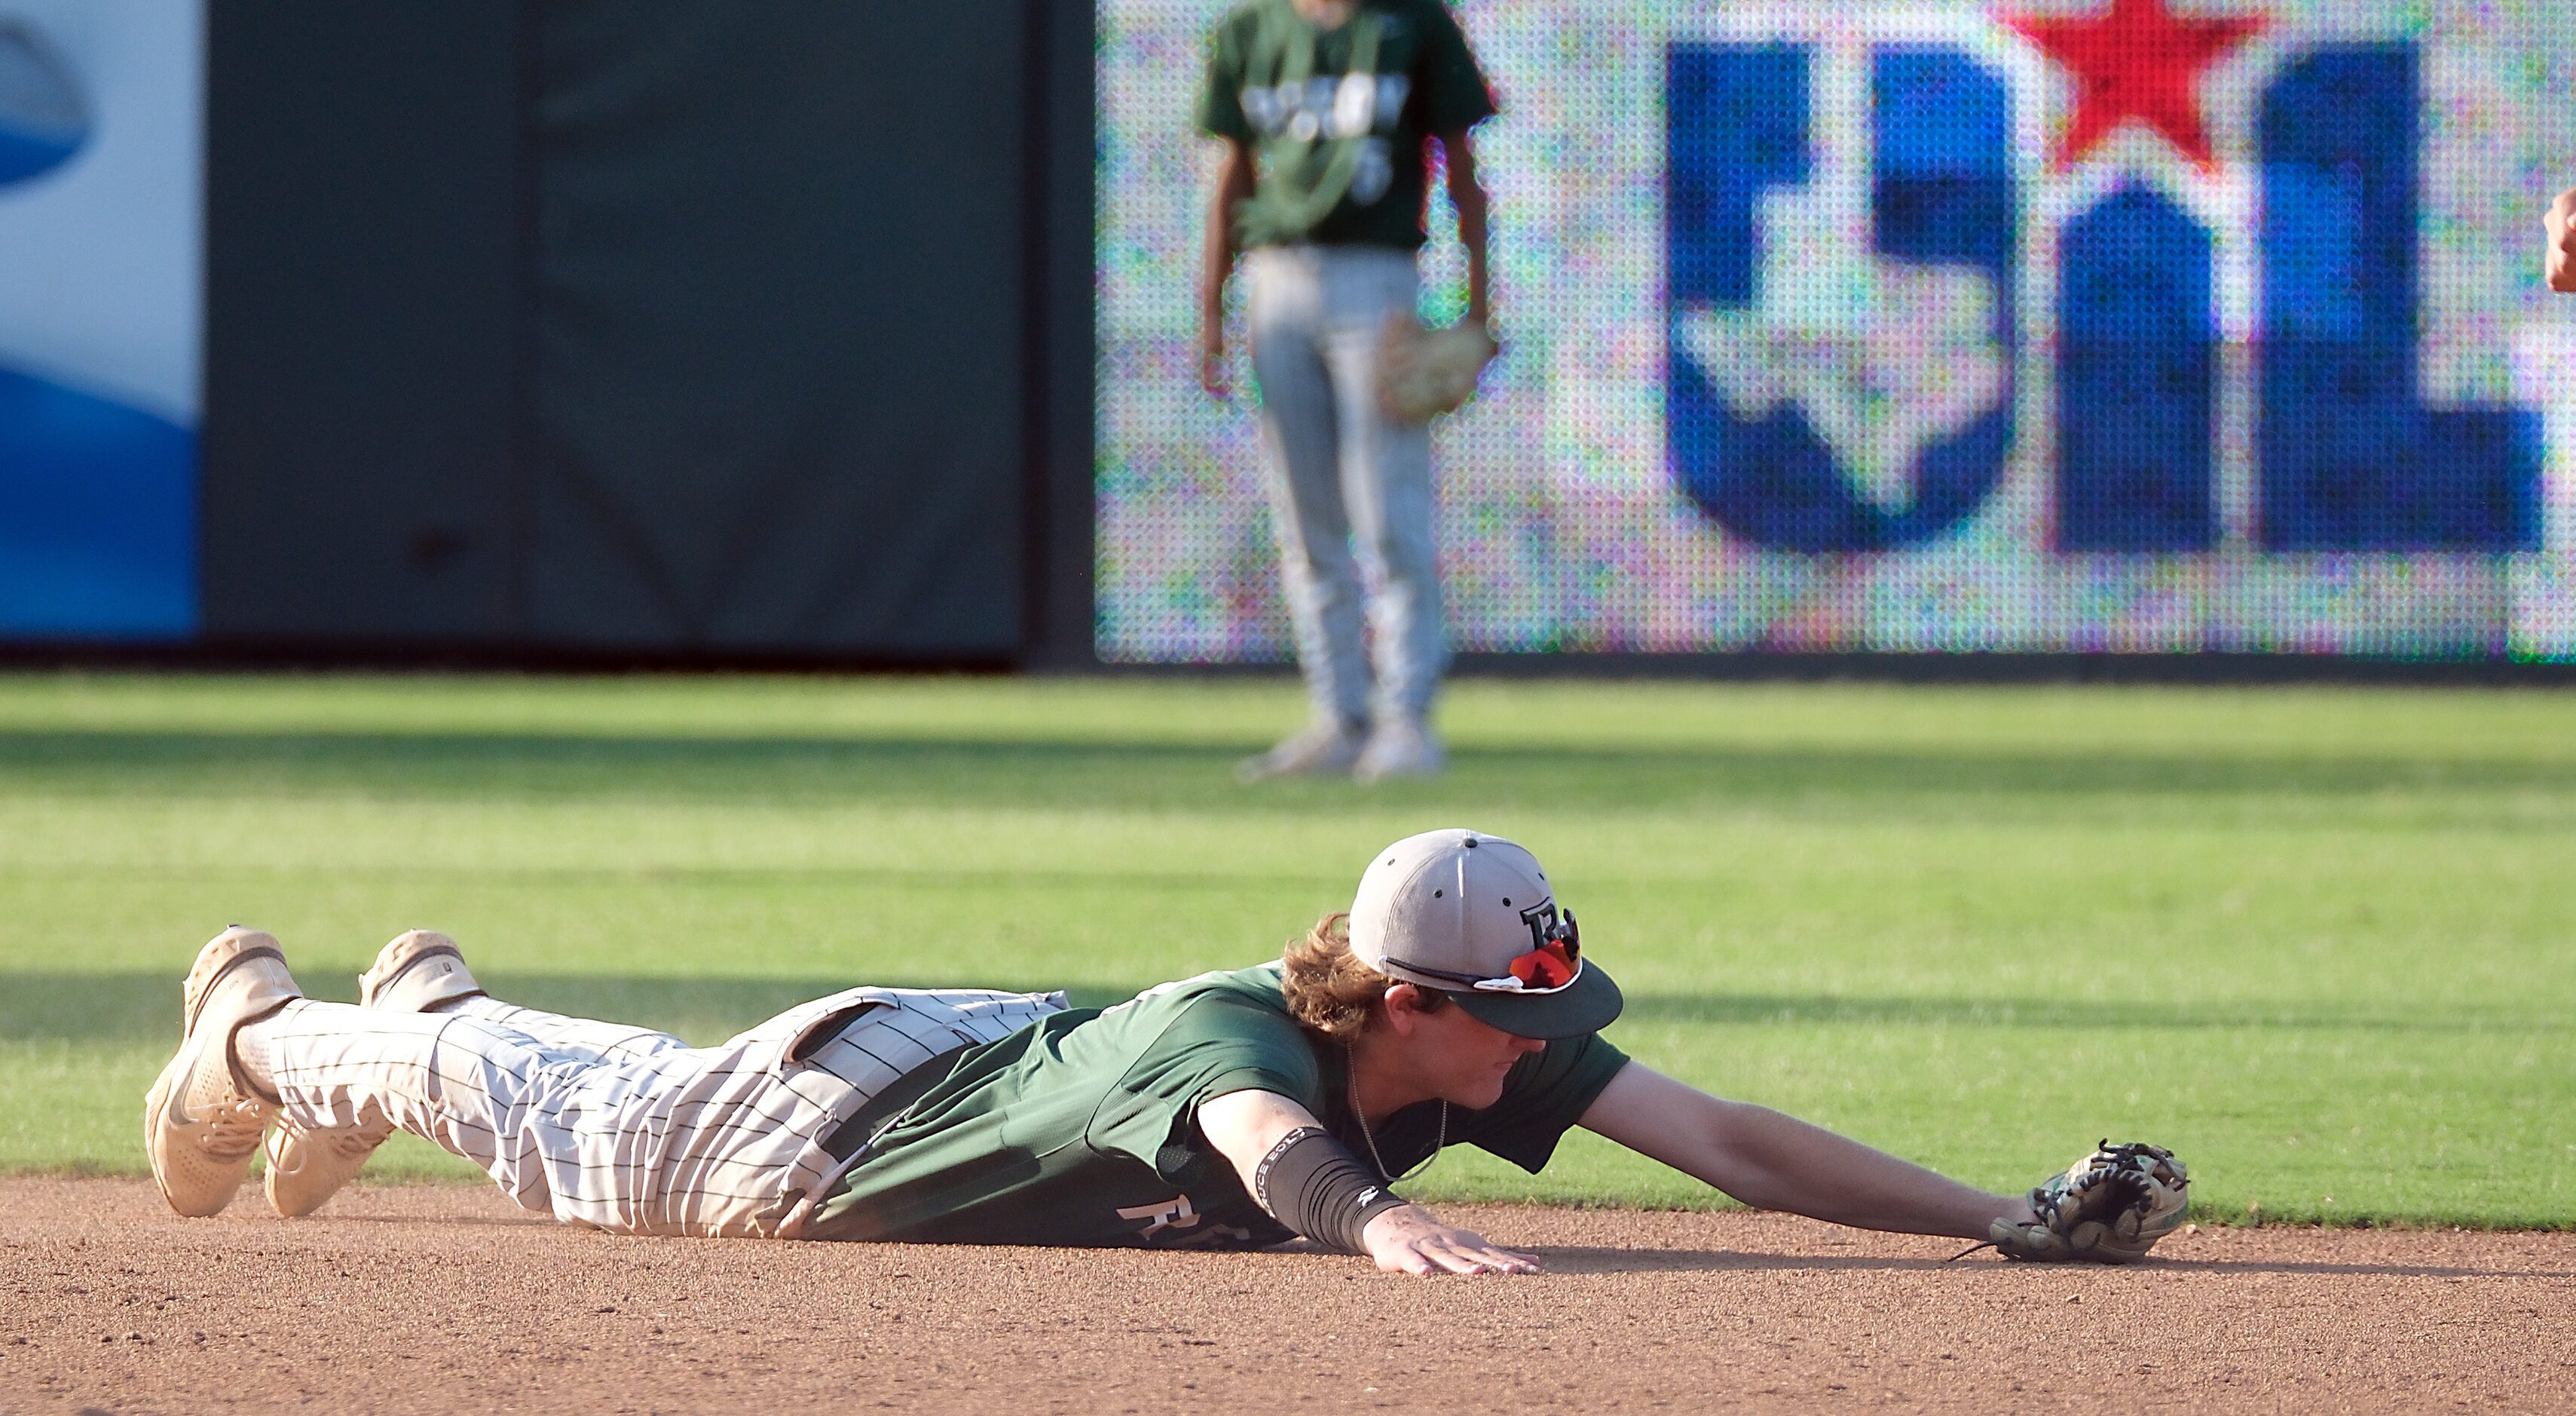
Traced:
POLYGON ((209 640, 1087 642, 1087 5, 211 18, 209 640))

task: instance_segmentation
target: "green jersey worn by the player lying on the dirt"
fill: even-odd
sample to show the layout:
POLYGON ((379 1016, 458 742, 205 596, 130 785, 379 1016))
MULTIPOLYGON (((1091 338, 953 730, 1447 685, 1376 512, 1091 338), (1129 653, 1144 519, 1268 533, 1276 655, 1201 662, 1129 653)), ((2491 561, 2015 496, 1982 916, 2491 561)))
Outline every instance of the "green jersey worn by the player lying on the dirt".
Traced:
MULTIPOLYGON (((1628 1057, 1600 1037, 1522 1057, 1502 1099, 1450 1109, 1448 1140, 1538 1171, 1628 1057)), ((987 1042, 914 1101, 840 1186, 806 1238, 920 1243, 1141 1243, 1252 1248, 1291 1233, 1198 1132, 1198 1106, 1275 1091, 1368 1163, 1342 1047, 1280 1003, 1280 965, 1167 983, 1115 1008, 1051 1014, 987 1042)), ((1396 1174, 1432 1153, 1440 1104, 1378 1119, 1396 1174)))

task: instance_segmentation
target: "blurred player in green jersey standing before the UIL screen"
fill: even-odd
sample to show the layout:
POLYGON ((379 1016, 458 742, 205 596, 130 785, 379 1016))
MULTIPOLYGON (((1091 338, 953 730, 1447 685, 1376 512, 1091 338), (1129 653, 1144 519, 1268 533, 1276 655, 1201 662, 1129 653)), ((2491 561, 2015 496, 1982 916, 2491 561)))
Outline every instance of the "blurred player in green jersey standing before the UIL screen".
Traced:
POLYGON ((1244 0, 1216 26, 1198 98, 1198 124, 1224 142, 1198 289, 1200 382, 1231 392, 1226 279, 1244 253, 1270 516, 1314 707, 1301 733, 1242 763, 1244 779, 1443 766, 1427 722, 1448 663, 1430 426, 1383 408, 1381 351, 1422 289, 1432 139, 1468 258, 1466 320, 1479 333, 1489 322, 1468 129, 1492 113, 1443 0, 1244 0), (1378 580, 1365 606, 1376 681, 1363 560, 1378 580))

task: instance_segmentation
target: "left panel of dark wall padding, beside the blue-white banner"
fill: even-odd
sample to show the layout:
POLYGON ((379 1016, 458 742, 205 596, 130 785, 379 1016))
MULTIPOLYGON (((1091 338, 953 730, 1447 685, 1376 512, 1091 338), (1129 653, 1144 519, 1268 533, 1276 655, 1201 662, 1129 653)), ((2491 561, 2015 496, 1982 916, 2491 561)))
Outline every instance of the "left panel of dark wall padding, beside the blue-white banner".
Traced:
POLYGON ((206 18, 206 634, 505 637, 515 8, 206 18))

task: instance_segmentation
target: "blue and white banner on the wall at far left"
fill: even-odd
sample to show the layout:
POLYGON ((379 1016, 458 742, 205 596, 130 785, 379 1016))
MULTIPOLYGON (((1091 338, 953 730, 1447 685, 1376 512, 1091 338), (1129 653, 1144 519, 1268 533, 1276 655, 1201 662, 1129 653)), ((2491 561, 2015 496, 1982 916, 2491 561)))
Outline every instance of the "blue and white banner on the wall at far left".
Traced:
POLYGON ((0 0, 0 640, 198 624, 201 0, 0 0))

